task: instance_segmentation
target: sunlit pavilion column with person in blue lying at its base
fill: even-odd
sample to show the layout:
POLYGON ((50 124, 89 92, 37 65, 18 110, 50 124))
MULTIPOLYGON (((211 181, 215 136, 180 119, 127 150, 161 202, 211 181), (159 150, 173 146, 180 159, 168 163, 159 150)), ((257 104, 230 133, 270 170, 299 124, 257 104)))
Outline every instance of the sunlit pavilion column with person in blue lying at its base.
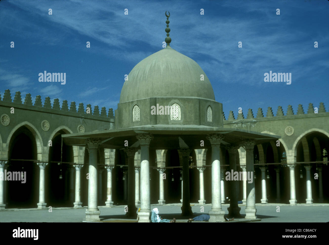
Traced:
POLYGON ((222 210, 220 189, 220 141, 224 138, 220 134, 208 135, 211 144, 211 210, 209 222, 224 221, 225 211, 222 210))

